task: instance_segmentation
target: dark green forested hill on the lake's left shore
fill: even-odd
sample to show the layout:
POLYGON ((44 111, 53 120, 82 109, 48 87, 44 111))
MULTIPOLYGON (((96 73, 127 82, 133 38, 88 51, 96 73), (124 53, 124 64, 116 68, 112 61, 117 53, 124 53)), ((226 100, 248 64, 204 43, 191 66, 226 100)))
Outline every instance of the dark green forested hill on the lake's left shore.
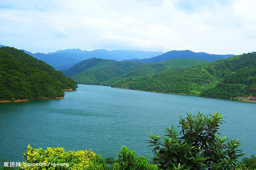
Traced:
POLYGON ((22 50, 0 48, 0 100, 64 97, 63 89, 76 89, 65 77, 22 50))

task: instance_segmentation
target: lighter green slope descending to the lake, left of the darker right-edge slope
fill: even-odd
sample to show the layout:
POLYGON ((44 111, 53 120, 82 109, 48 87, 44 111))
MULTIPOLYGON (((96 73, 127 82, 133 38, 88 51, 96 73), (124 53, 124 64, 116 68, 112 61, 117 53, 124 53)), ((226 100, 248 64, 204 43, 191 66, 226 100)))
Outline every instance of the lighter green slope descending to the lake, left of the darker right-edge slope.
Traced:
POLYGON ((214 76, 202 68, 177 68, 157 73, 153 76, 128 78, 116 81, 114 88, 138 89, 164 93, 196 93, 215 81, 214 76))

